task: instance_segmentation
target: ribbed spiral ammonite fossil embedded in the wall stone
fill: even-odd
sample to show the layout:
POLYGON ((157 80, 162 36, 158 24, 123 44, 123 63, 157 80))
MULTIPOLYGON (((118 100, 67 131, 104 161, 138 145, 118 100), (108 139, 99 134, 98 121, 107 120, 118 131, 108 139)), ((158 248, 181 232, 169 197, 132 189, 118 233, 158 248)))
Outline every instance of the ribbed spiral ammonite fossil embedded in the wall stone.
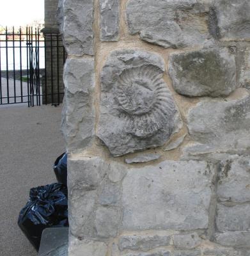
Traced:
POLYGON ((115 97, 125 118, 125 131, 140 138, 164 129, 175 109, 162 71, 151 65, 123 70, 115 97))

